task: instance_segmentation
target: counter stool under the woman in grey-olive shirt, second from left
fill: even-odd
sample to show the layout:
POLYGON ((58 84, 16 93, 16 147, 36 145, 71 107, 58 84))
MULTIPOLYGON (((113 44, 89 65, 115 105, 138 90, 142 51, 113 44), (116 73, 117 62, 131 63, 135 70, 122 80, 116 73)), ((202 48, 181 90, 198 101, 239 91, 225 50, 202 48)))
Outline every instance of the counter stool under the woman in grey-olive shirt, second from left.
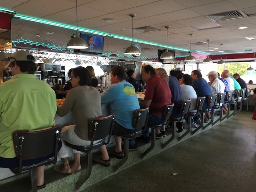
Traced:
POLYGON ((66 146, 84 152, 86 154, 86 172, 85 175, 81 175, 76 184, 74 184, 74 190, 78 190, 84 182, 90 177, 92 172, 92 153, 93 149, 99 148, 102 145, 106 145, 110 141, 111 132, 114 125, 114 115, 110 114, 109 116, 102 118, 92 118, 88 123, 88 138, 91 141, 91 144, 88 146, 77 146, 70 144, 65 141, 66 146), (106 137, 108 140, 106 142, 106 137), (99 142, 93 143, 94 140, 100 140, 99 142))

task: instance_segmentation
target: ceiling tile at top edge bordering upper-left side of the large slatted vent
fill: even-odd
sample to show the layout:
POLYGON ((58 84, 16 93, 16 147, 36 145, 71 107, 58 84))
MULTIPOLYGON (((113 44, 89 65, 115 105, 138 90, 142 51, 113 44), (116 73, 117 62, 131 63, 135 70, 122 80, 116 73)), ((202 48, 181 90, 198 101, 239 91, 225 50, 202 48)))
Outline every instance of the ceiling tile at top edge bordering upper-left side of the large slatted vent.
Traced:
POLYGON ((192 7, 190 9, 201 15, 209 15, 209 14, 233 11, 233 10, 236 10, 236 7, 233 6, 228 1, 221 1, 221 2, 211 3, 207 5, 192 7))

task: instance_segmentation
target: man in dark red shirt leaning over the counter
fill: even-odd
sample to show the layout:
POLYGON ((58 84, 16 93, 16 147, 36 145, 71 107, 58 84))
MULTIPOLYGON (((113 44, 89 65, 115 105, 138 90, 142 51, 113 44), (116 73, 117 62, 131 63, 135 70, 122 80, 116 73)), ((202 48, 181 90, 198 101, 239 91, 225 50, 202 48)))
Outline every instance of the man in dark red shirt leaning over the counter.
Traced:
MULTIPOLYGON (((162 124, 164 107, 172 104, 172 94, 170 88, 166 80, 156 76, 154 68, 150 65, 146 65, 142 69, 142 80, 147 84, 147 87, 145 92, 145 100, 140 102, 140 108, 150 108, 148 125, 162 124)), ((146 128, 146 132, 137 138, 137 140, 142 140, 146 143, 151 141, 148 134, 148 128, 146 128)))

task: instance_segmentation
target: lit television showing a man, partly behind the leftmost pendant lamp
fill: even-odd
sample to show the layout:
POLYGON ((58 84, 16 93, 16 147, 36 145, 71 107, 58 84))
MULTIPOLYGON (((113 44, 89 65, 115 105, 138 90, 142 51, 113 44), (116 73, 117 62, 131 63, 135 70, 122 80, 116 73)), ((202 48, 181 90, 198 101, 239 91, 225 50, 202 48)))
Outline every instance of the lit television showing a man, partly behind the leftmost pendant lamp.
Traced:
POLYGON ((91 34, 80 33, 80 38, 83 38, 88 43, 87 49, 74 49, 74 52, 79 53, 92 53, 92 54, 102 54, 103 53, 103 41, 102 36, 96 36, 91 34))

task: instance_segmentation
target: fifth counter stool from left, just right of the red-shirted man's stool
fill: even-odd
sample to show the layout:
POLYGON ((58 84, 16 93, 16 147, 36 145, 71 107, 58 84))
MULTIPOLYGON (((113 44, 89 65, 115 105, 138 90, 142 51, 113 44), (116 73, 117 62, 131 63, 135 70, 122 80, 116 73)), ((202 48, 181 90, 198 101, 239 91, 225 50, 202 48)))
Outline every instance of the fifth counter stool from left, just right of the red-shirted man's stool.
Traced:
POLYGON ((184 118, 187 117, 189 108, 190 108, 191 100, 184 100, 181 103, 180 107, 180 117, 171 117, 169 120, 172 122, 172 136, 168 139, 164 144, 162 144, 162 149, 166 147, 172 140, 175 138, 176 132, 176 122, 181 122, 184 118))

